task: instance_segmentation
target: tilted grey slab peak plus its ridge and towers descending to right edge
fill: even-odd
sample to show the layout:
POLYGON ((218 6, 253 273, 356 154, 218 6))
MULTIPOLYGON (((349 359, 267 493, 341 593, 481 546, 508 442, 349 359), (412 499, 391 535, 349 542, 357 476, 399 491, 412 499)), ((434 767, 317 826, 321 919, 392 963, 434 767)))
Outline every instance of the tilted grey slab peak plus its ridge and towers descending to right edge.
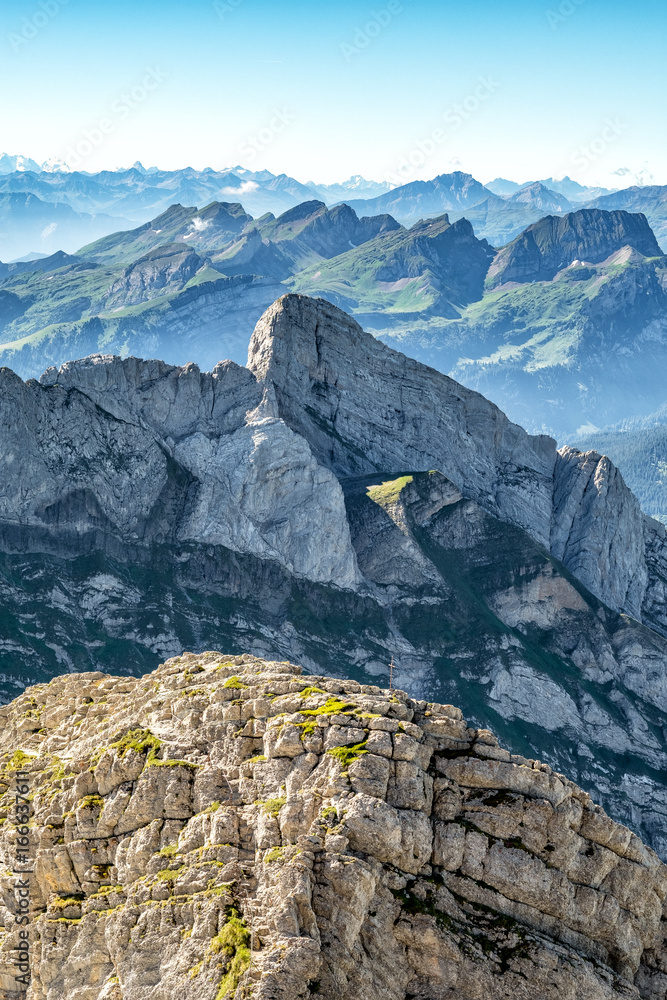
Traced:
POLYGON ((602 456, 557 452, 551 438, 526 434, 479 393, 387 348, 321 300, 274 303, 250 341, 248 367, 337 475, 437 469, 550 547, 612 608, 667 634, 649 593, 649 580, 651 590, 659 580, 648 551, 667 558, 662 535, 602 456))

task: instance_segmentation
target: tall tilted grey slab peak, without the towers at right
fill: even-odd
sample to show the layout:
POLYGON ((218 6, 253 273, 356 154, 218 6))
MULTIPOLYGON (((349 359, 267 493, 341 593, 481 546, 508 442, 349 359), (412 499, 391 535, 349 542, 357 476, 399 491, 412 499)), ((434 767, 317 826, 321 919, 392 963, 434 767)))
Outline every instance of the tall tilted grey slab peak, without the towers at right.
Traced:
POLYGON ((329 302, 279 299, 255 329, 248 368, 337 474, 438 469, 548 539, 552 439, 526 434, 483 396, 386 347, 329 302))

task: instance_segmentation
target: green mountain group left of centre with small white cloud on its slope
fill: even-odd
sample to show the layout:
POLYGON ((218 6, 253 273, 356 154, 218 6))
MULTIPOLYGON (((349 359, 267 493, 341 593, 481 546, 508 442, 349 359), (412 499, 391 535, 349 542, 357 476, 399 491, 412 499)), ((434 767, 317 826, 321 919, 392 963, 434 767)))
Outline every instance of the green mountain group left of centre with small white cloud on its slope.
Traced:
POLYGON ((242 362, 283 281, 400 229, 389 216, 359 219, 320 201, 260 219, 233 202, 171 205, 76 256, 0 264, 2 361, 22 376, 99 350, 242 362))

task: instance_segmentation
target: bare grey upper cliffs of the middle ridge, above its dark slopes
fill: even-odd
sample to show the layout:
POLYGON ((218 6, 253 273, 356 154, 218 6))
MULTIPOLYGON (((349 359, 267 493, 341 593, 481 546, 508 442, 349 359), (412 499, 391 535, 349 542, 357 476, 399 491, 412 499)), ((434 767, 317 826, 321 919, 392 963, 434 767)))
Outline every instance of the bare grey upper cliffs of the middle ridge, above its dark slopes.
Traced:
MULTIPOLYGON (((557 454, 550 438, 526 434, 483 396, 386 347, 324 300, 278 300, 256 328, 248 369, 225 363, 207 374, 196 365, 98 355, 49 370, 41 393, 17 379, 2 402, 5 447, 12 453, 19 447, 12 428, 20 413, 26 454, 35 456, 34 468, 28 462, 8 470, 7 517, 41 523, 43 510, 73 488, 77 468, 77 488, 85 482, 124 536, 144 537, 162 491, 176 490, 181 513, 169 530, 177 537, 215 539, 275 558, 310 579, 357 586, 339 480, 433 469, 485 511, 550 548, 611 608, 667 632, 659 593, 667 546, 611 463, 557 454), (121 422, 118 432, 104 413, 121 422), (95 462, 53 464, 55 452, 71 455, 83 447, 91 420, 101 478, 95 462), (115 433, 120 437, 111 443, 115 433), (112 457, 121 438, 137 461, 143 454, 145 475, 153 470, 144 495, 130 489, 123 462, 112 457), (269 472, 271 447, 275 462, 280 456, 290 469, 282 480, 269 472), (165 456, 176 466, 165 464, 165 456), (51 469, 48 488, 36 471, 45 467, 51 469), (184 484, 176 487, 175 469, 194 477, 196 503, 184 484), (34 489, 26 489, 26 477, 34 478, 34 489), (312 490, 312 517, 297 530, 312 490), (118 506, 118 496, 127 496, 126 505, 118 506), (242 498, 240 520, 231 498, 242 498), (317 540, 325 525, 336 539, 326 553, 317 540)), ((90 454, 92 447, 89 441, 90 454)))

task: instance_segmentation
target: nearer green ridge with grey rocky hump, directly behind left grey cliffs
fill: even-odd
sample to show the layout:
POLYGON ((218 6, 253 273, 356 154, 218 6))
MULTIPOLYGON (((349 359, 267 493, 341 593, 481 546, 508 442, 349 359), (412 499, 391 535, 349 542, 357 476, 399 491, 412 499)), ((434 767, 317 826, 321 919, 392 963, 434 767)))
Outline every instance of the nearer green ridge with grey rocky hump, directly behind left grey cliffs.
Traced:
POLYGON ((0 280, 0 365, 34 378, 45 363, 100 351, 164 355, 209 371, 223 358, 242 361, 248 329, 285 287, 227 277, 181 253, 151 251, 123 271, 79 262, 0 280))

